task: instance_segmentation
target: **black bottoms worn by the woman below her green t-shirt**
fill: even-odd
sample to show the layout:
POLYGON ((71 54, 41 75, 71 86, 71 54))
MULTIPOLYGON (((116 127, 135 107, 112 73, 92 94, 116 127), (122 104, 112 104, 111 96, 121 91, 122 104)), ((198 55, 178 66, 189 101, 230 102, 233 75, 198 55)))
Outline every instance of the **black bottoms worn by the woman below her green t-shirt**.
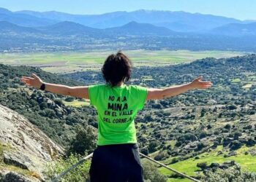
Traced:
POLYGON ((91 182, 142 182, 138 144, 98 146, 91 159, 91 182))

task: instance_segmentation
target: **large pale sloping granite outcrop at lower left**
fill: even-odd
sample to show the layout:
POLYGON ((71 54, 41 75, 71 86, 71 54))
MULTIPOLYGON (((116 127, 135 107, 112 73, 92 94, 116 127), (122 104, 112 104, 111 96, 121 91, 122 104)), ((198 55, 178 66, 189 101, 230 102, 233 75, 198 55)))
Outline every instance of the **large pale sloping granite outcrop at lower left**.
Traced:
MULTIPOLYGON (((4 165, 37 173, 43 179, 45 165, 63 154, 63 149, 20 114, 0 105, 0 144, 4 165)), ((3 171, 1 171, 3 174, 3 171)), ((1 181, 12 181, 18 173, 5 172, 1 181), (4 176, 4 177, 3 177, 4 176)), ((20 175, 21 176, 21 175, 20 175)), ((22 177, 22 176, 21 176, 22 177)), ((29 181, 24 177, 17 181, 29 181)))

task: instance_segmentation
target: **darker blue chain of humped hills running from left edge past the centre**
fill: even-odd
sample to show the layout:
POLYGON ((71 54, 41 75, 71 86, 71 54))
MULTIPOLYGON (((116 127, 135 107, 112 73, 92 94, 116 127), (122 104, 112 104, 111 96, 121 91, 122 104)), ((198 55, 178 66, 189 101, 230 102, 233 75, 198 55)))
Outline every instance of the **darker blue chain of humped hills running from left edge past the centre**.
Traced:
POLYGON ((1 32, 15 32, 15 33, 42 33, 45 35, 86 35, 91 37, 98 36, 171 36, 176 35, 174 31, 170 31, 165 27, 158 27, 149 23, 130 22, 126 25, 116 28, 90 28, 79 23, 64 21, 53 25, 48 25, 39 28, 27 28, 19 25, 9 23, 7 21, 0 21, 1 32))

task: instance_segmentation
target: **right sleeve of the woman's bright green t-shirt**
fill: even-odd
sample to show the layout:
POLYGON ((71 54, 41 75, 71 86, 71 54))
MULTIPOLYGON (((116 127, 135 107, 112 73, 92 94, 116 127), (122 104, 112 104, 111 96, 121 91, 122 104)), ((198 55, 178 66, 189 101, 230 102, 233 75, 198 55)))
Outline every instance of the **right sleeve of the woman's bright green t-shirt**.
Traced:
POLYGON ((138 109, 143 109, 145 103, 146 103, 146 98, 148 96, 148 89, 146 87, 141 87, 141 86, 133 86, 135 89, 135 97, 138 100, 138 109))

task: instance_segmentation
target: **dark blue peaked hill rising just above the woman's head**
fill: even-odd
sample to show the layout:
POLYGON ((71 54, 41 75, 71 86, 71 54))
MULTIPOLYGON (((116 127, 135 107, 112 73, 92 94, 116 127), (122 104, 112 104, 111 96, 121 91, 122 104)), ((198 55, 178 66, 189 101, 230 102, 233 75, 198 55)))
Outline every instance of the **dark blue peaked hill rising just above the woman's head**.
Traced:
POLYGON ((116 28, 106 28, 108 35, 136 35, 136 36, 171 36, 177 34, 165 27, 158 27, 149 23, 137 23, 132 21, 116 28))

